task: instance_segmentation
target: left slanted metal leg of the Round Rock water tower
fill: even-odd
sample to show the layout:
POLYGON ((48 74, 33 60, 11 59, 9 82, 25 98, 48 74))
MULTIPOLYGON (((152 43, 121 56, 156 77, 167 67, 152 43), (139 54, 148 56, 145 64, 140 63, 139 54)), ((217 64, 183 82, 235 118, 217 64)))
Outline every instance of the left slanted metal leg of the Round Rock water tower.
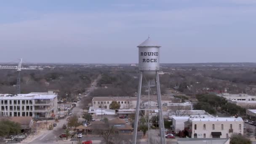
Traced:
POLYGON ((136 144, 136 141, 137 141, 138 121, 139 121, 140 101, 141 101, 142 74, 143 74, 143 71, 140 71, 139 88, 137 93, 137 105, 136 105, 136 113, 135 113, 134 128, 133 128, 133 142, 132 142, 133 144, 136 144))

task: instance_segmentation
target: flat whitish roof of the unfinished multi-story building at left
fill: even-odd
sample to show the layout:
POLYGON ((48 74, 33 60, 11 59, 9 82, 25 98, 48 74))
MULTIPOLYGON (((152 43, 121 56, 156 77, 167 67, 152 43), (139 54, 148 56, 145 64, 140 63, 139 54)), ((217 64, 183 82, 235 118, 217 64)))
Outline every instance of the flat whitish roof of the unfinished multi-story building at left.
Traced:
POLYGON ((12 99, 53 99, 57 95, 40 95, 40 94, 0 94, 0 99, 12 100, 12 99))

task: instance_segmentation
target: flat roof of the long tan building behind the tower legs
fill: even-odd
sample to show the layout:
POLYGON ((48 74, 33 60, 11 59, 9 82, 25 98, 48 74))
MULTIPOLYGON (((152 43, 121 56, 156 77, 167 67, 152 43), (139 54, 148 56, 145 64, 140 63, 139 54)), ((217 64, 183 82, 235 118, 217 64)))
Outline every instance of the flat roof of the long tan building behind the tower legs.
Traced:
MULTIPOLYGON (((171 101, 171 97, 161 96, 162 101, 171 101)), ((147 96, 141 96, 141 101, 148 101, 147 96)), ((93 101, 137 101, 137 97, 130 96, 95 96, 93 101)), ((157 101, 157 96, 150 96, 150 101, 157 101)))

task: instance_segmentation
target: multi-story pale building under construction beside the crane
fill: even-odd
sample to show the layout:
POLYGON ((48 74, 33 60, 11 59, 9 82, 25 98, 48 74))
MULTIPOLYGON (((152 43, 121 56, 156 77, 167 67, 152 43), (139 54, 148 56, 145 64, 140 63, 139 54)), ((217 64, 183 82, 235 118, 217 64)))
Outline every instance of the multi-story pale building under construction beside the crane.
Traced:
POLYGON ((52 117, 57 113, 57 95, 0 94, 0 116, 52 117))

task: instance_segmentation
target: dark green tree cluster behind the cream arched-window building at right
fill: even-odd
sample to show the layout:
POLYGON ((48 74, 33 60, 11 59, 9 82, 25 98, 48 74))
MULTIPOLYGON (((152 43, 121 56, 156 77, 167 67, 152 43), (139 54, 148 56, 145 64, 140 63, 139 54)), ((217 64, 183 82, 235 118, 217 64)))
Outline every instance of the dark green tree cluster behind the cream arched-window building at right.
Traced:
POLYGON ((198 100, 194 105, 194 109, 205 110, 209 114, 216 115, 216 112, 226 112, 233 116, 245 115, 245 109, 236 104, 229 103, 225 98, 216 96, 215 94, 198 94, 198 100))

